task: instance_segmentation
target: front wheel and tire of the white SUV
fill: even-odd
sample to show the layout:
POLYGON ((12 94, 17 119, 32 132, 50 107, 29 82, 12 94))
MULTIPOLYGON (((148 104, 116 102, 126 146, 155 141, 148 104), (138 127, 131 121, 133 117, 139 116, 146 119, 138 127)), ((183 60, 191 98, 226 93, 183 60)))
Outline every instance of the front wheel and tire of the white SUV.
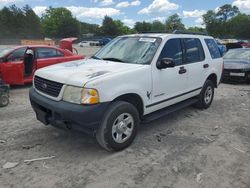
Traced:
POLYGON ((107 151, 123 150, 135 139, 139 123, 139 113, 132 104, 113 102, 96 132, 97 142, 107 151))

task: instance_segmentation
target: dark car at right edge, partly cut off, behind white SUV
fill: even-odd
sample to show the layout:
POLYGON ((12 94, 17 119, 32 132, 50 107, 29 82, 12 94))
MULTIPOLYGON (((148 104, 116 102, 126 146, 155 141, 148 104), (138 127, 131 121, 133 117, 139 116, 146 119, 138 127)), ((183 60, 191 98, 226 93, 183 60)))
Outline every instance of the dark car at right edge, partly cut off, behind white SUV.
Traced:
POLYGON ((224 56, 223 81, 250 81, 250 49, 229 50, 224 56))

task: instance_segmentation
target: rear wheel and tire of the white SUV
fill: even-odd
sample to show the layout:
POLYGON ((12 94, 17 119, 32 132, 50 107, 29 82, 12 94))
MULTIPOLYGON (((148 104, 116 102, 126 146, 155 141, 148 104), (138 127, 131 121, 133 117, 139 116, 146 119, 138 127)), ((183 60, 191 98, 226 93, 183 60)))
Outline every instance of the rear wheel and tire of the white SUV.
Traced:
POLYGON ((210 107, 214 99, 214 83, 207 80, 202 87, 201 93, 198 96, 198 102, 195 107, 200 109, 207 109, 210 107))

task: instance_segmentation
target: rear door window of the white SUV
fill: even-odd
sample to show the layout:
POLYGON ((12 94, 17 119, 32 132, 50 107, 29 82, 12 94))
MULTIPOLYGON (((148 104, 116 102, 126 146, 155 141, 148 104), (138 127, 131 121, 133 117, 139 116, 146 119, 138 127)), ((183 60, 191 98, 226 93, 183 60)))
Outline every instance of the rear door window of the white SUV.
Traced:
POLYGON ((185 46, 185 63, 200 62, 205 59, 201 41, 196 38, 183 39, 185 46))

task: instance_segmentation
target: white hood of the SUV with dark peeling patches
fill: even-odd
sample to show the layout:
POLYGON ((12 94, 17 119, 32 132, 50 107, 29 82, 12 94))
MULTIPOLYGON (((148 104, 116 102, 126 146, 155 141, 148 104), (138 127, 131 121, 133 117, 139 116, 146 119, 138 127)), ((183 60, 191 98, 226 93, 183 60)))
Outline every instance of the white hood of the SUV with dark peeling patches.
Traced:
POLYGON ((83 87, 89 81, 142 66, 138 64, 87 59, 45 67, 37 70, 35 75, 63 84, 83 87))

